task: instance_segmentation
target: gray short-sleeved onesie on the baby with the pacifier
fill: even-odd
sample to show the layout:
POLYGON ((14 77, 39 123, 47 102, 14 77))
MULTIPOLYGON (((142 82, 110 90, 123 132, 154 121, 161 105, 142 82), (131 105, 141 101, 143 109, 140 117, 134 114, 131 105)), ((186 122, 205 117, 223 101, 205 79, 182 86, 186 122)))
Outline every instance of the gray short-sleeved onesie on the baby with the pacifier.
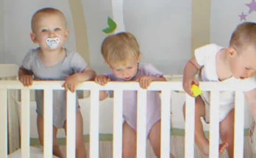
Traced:
MULTIPOLYGON (((31 49, 22 61, 22 66, 34 73, 35 79, 40 80, 65 80, 67 76, 81 73, 88 65, 76 52, 65 49, 65 58, 56 65, 46 66, 38 56, 39 49, 31 49)), ((38 115, 43 117, 43 90, 35 90, 38 115)), ((79 108, 78 100, 76 104, 79 108)), ((53 91, 53 125, 58 129, 63 128, 66 120, 66 93, 65 90, 53 91)))

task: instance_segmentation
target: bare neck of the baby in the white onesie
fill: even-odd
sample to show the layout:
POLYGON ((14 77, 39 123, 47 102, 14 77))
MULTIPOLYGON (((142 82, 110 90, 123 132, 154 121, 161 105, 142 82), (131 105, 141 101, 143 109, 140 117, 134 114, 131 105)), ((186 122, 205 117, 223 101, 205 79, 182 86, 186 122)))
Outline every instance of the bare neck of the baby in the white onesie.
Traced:
POLYGON ((232 72, 230 71, 230 64, 227 59, 227 49, 221 49, 216 56, 216 73, 218 79, 223 81, 232 77, 232 72))

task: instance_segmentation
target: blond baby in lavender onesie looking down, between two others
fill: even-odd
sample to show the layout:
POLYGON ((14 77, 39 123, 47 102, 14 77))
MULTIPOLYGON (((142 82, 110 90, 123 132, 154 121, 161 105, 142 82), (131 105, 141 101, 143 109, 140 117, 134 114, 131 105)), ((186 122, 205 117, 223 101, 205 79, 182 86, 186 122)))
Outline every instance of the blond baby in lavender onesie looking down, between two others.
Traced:
MULTIPOLYGON (((163 73, 153 65, 140 65, 140 47, 136 38, 129 32, 120 32, 107 36, 102 43, 102 56, 112 72, 96 76, 95 81, 99 85, 105 85, 109 81, 138 81, 142 88, 147 88, 153 81, 166 81, 163 73)), ((106 97, 106 92, 100 94, 100 100, 106 97)), ((137 129, 136 91, 124 90, 123 99, 123 157, 135 157, 137 129)), ((160 157, 161 102, 159 93, 148 91, 146 106, 147 137, 154 149, 154 154, 160 157)), ((171 157, 173 156, 171 155, 171 157)))

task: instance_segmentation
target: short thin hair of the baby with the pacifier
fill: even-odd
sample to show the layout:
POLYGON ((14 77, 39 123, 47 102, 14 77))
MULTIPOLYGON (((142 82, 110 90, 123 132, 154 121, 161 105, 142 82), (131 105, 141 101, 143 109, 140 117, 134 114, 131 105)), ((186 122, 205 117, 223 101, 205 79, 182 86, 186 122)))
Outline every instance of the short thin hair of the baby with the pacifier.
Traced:
POLYGON ((32 19, 31 19, 31 29, 32 32, 35 31, 34 27, 35 27, 35 22, 38 18, 40 18, 40 15, 43 14, 48 14, 48 15, 60 15, 60 17, 63 18, 63 21, 65 21, 65 26, 67 25, 66 19, 65 19, 65 15, 63 14, 63 12, 61 12, 60 10, 57 10, 55 8, 52 7, 43 7, 42 9, 36 11, 34 13, 34 15, 32 15, 32 19))

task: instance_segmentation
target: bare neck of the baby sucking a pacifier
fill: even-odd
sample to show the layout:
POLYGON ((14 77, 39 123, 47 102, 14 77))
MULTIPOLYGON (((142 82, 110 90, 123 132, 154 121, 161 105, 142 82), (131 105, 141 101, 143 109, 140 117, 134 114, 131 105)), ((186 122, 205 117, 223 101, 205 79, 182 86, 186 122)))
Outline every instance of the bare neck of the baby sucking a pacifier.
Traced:
POLYGON ((54 51, 39 51, 40 60, 46 66, 56 65, 65 57, 65 49, 56 49, 54 51))

